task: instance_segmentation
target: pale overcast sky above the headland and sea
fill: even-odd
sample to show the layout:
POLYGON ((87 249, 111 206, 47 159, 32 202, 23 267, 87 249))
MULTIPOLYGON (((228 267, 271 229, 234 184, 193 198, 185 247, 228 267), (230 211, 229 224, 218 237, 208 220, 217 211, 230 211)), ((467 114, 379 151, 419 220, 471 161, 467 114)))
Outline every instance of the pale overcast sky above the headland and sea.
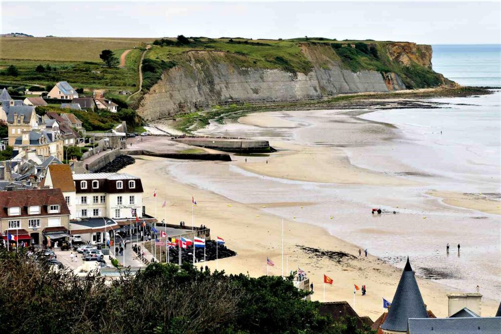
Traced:
POLYGON ((501 2, 9 2, 3 34, 501 43, 501 2), (20 13, 25 13, 20 15, 20 13))

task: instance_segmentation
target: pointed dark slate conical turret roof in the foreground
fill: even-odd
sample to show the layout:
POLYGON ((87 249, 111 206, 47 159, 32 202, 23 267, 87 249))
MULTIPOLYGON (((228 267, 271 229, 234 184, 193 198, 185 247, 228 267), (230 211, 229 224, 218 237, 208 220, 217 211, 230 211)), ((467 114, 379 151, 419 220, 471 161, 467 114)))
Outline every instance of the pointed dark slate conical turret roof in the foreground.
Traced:
POLYGON ((410 266, 409 257, 407 257, 407 263, 400 277, 400 282, 398 282, 397 291, 388 310, 388 316, 381 328, 406 332, 409 318, 427 317, 428 312, 410 266))

